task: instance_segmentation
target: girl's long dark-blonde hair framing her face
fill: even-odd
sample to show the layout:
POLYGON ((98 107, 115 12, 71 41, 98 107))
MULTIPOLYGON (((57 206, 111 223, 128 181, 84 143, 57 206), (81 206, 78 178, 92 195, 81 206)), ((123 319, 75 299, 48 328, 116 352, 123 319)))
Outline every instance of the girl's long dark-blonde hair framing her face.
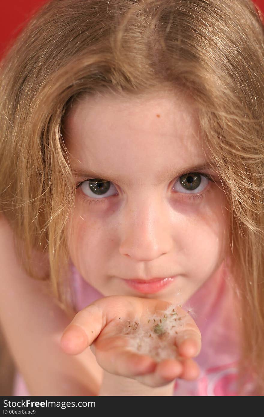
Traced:
MULTIPOLYGON (((63 117, 80 94, 191 95, 229 202, 230 276, 241 317, 240 380, 264 392, 264 29, 250 0, 53 0, 0 68, 0 210, 48 254, 62 290, 75 183, 63 117)), ((241 385, 241 393, 242 385, 241 385)), ((239 389, 240 389, 239 388, 239 389)))

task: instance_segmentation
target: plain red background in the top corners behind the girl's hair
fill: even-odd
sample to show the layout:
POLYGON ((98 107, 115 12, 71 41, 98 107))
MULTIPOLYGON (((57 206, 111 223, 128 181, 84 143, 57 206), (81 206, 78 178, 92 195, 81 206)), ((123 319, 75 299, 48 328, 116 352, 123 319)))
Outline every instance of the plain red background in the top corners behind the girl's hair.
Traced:
MULTIPOLYGON (((0 7, 0 55, 25 24, 25 20, 47 0, 1 0, 0 7)), ((73 0, 74 1, 74 0, 73 0)), ((254 0, 264 13, 264 0, 254 0)))

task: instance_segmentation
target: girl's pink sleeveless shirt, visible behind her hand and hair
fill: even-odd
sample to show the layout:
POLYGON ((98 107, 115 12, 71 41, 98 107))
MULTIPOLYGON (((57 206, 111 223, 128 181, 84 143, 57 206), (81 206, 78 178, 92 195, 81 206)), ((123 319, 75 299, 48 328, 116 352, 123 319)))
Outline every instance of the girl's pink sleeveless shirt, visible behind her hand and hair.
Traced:
MULTIPOLYGON (((237 361, 239 360, 239 334, 236 311, 223 263, 222 274, 206 281, 182 307, 194 311, 193 317, 202 335, 202 347, 195 358, 200 376, 195 381, 177 379, 174 394, 179 396, 235 396, 237 361)), ((103 297, 89 285, 71 264, 73 300, 77 311, 103 297)), ((190 313, 191 314, 191 313, 190 313)), ((252 385, 245 387, 250 395, 252 385)), ((15 377, 14 396, 30 395, 19 373, 15 377)))

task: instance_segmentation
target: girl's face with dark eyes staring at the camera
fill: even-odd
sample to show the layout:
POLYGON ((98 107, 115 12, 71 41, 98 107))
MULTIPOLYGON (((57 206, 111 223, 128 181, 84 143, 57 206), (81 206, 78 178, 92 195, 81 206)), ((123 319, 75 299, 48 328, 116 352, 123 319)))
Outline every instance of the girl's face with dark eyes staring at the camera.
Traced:
POLYGON ((86 281, 104 296, 185 302, 221 272, 226 195, 199 167, 208 159, 190 99, 87 97, 65 130, 80 183, 68 250, 86 281))

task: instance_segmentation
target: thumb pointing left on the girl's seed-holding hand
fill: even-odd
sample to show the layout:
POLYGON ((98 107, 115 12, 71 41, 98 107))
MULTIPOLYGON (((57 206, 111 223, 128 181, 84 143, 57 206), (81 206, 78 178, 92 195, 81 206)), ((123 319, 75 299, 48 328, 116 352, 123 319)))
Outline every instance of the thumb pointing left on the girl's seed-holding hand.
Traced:
POLYGON ((79 311, 60 339, 64 352, 76 355, 83 352, 106 325, 103 311, 97 304, 91 304, 79 311))

